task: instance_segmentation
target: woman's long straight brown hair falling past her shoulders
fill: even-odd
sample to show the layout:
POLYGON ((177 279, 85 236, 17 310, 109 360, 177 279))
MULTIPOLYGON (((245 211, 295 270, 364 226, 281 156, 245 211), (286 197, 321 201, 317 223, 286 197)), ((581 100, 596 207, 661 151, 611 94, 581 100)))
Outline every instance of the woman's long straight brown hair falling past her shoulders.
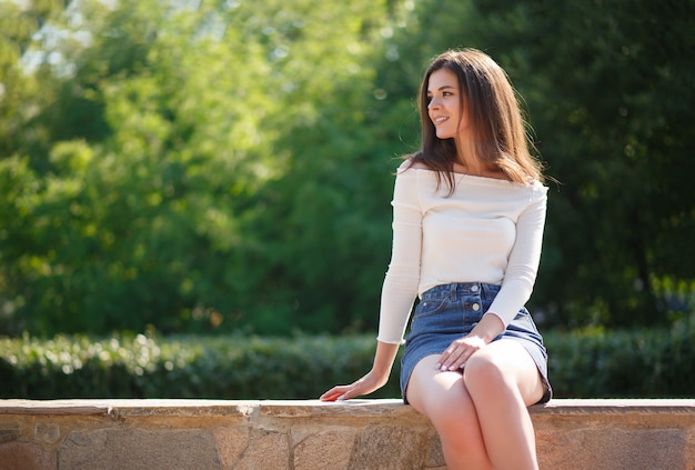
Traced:
POLYGON ((451 192, 455 188, 454 139, 436 137, 427 113, 430 77, 440 69, 454 72, 461 89, 461 109, 467 100, 476 157, 491 170, 502 170, 514 182, 543 181, 542 166, 531 154, 532 142, 526 133, 516 92, 506 72, 484 52, 476 49, 450 50, 437 56, 420 86, 419 110, 422 122, 422 148, 410 156, 437 171, 441 182, 446 177, 451 192))

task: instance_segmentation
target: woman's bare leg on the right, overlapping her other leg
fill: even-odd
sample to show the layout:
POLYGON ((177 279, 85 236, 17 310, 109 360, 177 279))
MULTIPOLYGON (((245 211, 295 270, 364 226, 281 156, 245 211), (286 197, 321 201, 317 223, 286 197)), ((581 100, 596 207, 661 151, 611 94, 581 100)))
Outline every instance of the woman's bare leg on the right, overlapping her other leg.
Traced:
POLYGON ((467 360, 463 381, 494 468, 536 470, 535 434, 527 407, 542 398, 543 383, 526 350, 511 340, 490 343, 467 360))

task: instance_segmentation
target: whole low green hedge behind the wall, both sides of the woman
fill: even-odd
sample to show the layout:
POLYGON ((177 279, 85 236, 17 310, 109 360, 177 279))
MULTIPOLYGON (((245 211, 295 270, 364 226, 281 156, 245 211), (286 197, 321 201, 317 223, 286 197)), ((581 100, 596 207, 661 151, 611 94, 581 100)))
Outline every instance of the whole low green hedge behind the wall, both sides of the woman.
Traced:
MULTIPOLYGON (((556 398, 695 394, 695 332, 545 336, 556 398)), ((316 398, 369 370, 373 336, 0 339, 1 398, 316 398)), ((399 396, 399 367, 374 398, 399 396)))

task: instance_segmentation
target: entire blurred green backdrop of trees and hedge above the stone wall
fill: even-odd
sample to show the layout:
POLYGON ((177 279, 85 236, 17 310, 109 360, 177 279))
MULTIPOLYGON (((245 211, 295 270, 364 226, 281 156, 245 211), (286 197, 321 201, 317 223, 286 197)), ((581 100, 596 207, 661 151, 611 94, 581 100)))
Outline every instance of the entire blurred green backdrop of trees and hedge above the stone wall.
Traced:
POLYGON ((694 21, 692 0, 0 0, 0 397, 361 377, 419 81, 460 47, 505 68, 552 177, 528 307, 556 396, 692 397, 694 21))

